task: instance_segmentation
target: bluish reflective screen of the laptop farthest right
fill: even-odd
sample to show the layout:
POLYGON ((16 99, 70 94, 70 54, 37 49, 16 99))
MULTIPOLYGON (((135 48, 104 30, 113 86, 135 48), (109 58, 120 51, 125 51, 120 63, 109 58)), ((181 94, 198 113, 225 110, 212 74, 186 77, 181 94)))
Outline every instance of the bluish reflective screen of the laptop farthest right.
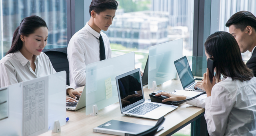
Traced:
POLYGON ((193 73, 186 56, 174 61, 183 88, 194 81, 193 73))

